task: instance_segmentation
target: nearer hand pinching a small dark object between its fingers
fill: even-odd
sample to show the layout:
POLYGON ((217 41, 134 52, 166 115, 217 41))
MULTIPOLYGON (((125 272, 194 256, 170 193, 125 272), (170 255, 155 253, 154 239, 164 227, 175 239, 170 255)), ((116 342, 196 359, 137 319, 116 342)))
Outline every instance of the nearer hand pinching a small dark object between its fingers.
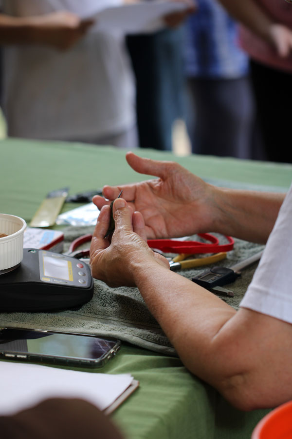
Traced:
POLYGON ((113 203, 113 217, 115 230, 111 239, 104 238, 110 224, 110 206, 104 206, 97 219, 90 248, 93 278, 111 287, 134 287, 140 270, 155 269, 157 264, 169 269, 167 259, 148 247, 139 212, 133 213, 127 202, 119 198, 113 203))

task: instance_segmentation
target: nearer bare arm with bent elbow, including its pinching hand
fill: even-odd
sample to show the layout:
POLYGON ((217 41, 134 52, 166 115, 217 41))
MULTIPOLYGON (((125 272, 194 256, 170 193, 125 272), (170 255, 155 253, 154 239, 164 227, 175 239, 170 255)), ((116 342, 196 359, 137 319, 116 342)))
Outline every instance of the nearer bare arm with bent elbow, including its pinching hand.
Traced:
POLYGON ((136 285, 185 366, 242 410, 292 398, 292 325, 240 309, 169 271, 146 245, 143 218, 122 199, 113 204, 115 232, 104 239, 109 207, 91 242, 93 277, 110 286, 136 285), (135 218, 136 217, 136 218, 135 218))

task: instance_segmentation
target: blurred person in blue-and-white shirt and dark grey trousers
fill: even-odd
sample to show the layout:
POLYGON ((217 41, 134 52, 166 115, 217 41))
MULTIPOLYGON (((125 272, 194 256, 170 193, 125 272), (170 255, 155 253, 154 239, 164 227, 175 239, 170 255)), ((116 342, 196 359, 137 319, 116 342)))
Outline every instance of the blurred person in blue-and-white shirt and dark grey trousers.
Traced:
POLYGON ((237 23, 216 0, 197 0, 185 24, 186 121, 192 152, 252 157, 255 129, 249 58, 237 23))

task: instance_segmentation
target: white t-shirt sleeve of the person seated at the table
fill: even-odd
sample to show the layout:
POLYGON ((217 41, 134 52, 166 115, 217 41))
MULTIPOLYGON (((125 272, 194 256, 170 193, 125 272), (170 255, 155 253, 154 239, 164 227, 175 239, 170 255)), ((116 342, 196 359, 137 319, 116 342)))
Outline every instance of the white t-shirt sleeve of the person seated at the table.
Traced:
POLYGON ((240 306, 292 323, 292 185, 240 306))

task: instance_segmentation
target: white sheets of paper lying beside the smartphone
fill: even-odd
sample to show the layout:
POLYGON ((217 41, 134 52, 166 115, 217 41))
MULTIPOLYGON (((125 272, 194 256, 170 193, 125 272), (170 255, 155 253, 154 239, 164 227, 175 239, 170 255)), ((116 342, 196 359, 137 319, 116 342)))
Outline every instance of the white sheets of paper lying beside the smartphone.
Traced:
POLYGON ((12 415, 48 398, 81 398, 100 410, 110 406, 133 381, 110 375, 0 361, 0 415, 12 415))

